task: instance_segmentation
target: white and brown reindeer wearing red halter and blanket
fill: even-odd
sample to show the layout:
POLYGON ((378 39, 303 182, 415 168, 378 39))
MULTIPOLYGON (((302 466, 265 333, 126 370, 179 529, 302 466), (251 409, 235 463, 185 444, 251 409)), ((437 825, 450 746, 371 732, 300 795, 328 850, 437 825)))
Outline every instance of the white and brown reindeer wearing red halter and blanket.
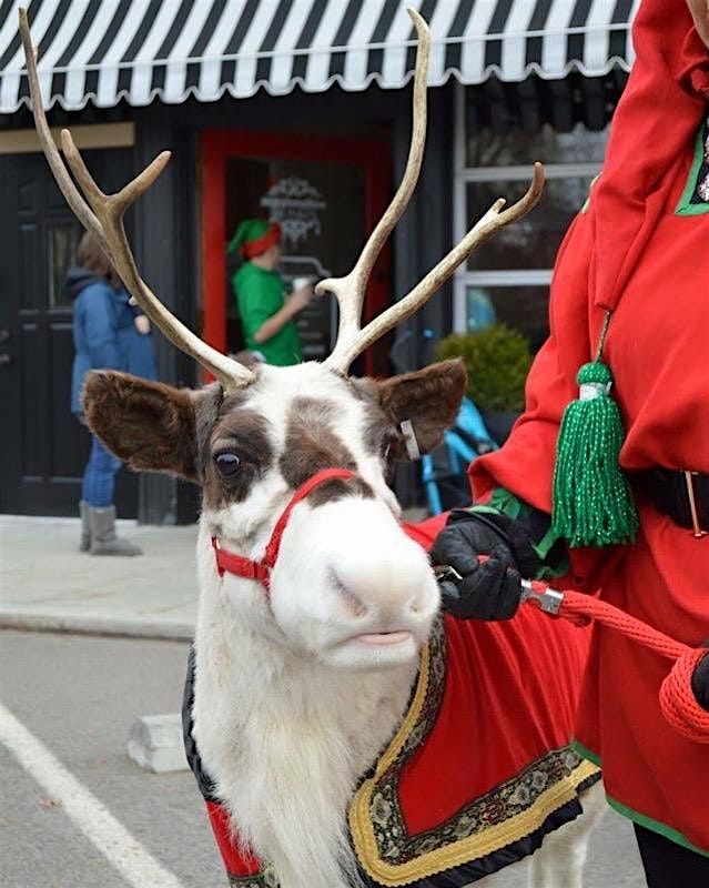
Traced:
MULTIPOLYGON (((580 813, 577 795, 597 776, 592 766, 569 759, 564 746, 584 643, 575 629, 546 630, 545 622, 546 634, 529 656, 523 636, 545 619, 531 610, 518 617, 527 620, 524 630, 515 629, 518 619, 442 619, 438 587, 419 545, 436 527, 427 537, 426 526, 407 534, 387 485, 395 460, 429 451, 453 423, 466 386, 463 364, 447 361, 384 381, 347 372, 356 355, 414 313, 474 249, 527 213, 543 188, 537 164, 517 204, 503 209, 498 200, 411 293, 362 329, 368 275, 411 198, 423 157, 429 37, 423 19, 411 16, 418 51, 402 184, 353 271, 317 286, 340 304, 336 346, 324 363, 257 370, 202 342, 140 278, 122 218, 160 174, 168 152, 122 191, 105 195, 64 130, 64 158, 84 196, 77 189, 47 127, 21 20, 37 128, 58 184, 153 323, 215 379, 191 391, 97 371, 83 403, 91 428, 133 468, 169 472, 202 486, 186 745, 231 884, 249 888, 462 886, 531 854, 545 833, 530 882, 580 885, 591 818, 553 830, 580 813), (514 632, 520 659, 506 672, 510 655, 500 645, 514 632), (492 652, 487 662, 475 660, 470 652, 478 647, 492 652), (466 761, 453 763, 453 778, 443 788, 435 774, 424 775, 421 809, 407 810, 396 796, 397 787, 411 786, 416 761, 431 761, 431 747, 423 744, 432 736, 439 741, 436 716, 457 715, 455 706, 445 709, 452 658, 470 669, 473 679, 460 689, 470 705, 479 693, 475 670, 495 670, 499 702, 514 697, 524 710, 531 685, 523 693, 523 674, 544 650, 551 663, 567 663, 555 682, 569 703, 544 713, 541 739, 531 726, 538 713, 521 726, 536 770, 523 768, 524 779, 484 793, 478 787, 480 798, 448 811, 445 828, 424 824, 418 834, 412 827, 404 835, 412 816, 433 816, 428 808, 458 783, 456 767, 462 783, 474 781, 486 758, 487 750, 470 749, 466 761), (503 791, 509 818, 494 821, 489 811, 499 808, 503 791), (399 820, 391 819, 393 808, 399 820), (402 850, 404 840, 408 850, 402 850)), ((536 632, 538 639, 541 630, 536 632)), ((464 725, 455 729, 465 733, 464 725)), ((502 750, 513 740, 519 738, 500 733, 490 746, 502 750)), ((449 770, 438 760, 442 773, 449 770)))

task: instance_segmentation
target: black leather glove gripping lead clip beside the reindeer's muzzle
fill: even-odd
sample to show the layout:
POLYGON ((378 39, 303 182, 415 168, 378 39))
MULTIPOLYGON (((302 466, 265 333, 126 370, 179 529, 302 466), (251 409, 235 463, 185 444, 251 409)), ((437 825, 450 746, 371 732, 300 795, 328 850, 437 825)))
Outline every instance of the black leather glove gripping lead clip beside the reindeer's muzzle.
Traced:
POLYGON ((539 558, 525 527, 506 515, 455 509, 431 549, 434 565, 463 578, 439 581, 444 610, 460 619, 509 619, 517 612, 521 577, 534 577, 539 558), (487 556, 478 561, 478 555, 487 556))

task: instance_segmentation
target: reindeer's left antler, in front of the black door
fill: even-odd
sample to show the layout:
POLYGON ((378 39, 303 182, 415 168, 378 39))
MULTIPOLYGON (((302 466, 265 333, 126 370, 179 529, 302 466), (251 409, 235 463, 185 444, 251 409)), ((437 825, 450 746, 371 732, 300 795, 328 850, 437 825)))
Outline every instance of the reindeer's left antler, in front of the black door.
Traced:
POLYGON ((73 172, 81 190, 74 185, 59 150, 54 144, 44 108, 37 74, 37 50, 32 47, 30 29, 27 20, 27 11, 20 9, 20 34, 24 47, 27 59, 27 73, 30 83, 30 97, 32 99, 32 112, 34 114, 34 125, 39 135, 44 157, 49 162, 57 184, 67 199, 81 224, 98 238, 105 254, 119 273, 125 287, 135 299, 150 320, 165 334, 165 336, 197 361, 205 370, 209 370, 226 390, 241 389, 253 382, 253 373, 226 357, 221 352, 207 345, 183 323, 171 314, 160 302, 158 296, 150 290, 142 280, 135 264, 135 259, 125 236, 123 226, 123 215, 129 206, 140 198, 152 183, 158 179, 170 160, 170 152, 163 151, 143 172, 129 182, 117 194, 104 194, 87 169, 81 154, 69 130, 61 131, 61 145, 67 163, 73 172))

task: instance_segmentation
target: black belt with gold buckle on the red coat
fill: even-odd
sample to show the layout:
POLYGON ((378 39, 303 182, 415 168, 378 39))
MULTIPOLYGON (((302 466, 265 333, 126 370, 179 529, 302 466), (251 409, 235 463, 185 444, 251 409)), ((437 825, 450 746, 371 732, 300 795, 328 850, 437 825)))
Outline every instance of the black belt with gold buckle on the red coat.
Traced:
POLYGON ((634 486, 658 512, 695 536, 709 533, 709 475, 681 468, 647 468, 632 472, 634 486))

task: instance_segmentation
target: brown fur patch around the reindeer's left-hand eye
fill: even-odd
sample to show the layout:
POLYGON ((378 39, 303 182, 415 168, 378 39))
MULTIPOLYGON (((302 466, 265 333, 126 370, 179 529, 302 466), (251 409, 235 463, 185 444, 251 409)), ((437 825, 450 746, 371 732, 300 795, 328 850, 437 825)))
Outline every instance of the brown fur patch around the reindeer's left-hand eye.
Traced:
POLYGON ((273 465, 269 422, 256 411, 240 406, 243 403, 243 395, 226 397, 211 430, 204 454, 204 501, 212 508, 242 503, 273 465), (235 453, 241 461, 233 477, 222 476, 214 462, 225 450, 235 453))

